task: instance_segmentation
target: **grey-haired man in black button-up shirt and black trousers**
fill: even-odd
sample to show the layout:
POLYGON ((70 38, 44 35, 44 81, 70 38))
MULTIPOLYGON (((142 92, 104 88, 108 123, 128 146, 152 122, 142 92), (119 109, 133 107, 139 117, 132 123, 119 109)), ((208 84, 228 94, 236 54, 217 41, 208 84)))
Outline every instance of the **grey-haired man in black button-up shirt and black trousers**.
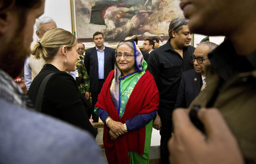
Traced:
POLYGON ((161 163, 169 163, 167 141, 171 137, 171 113, 176 101, 177 91, 183 71, 193 69, 191 55, 195 48, 190 46, 191 33, 189 20, 178 17, 169 25, 170 39, 163 46, 151 52, 148 59, 148 69, 154 76, 159 90, 159 109, 153 123, 153 128, 161 134, 161 163))

